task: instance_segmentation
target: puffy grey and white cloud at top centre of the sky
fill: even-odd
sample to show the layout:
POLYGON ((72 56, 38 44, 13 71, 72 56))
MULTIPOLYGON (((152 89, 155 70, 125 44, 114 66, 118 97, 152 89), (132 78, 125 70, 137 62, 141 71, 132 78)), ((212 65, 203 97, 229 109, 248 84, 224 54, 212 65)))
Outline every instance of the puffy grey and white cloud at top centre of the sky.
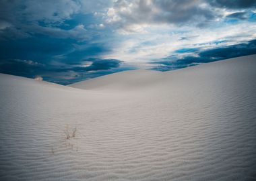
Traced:
POLYGON ((132 32, 131 27, 135 27, 135 25, 137 25, 137 29, 140 29, 139 25, 161 23, 198 25, 212 21, 216 17, 218 17, 218 13, 212 11, 201 0, 119 0, 108 9, 106 21, 127 30, 127 32, 132 32))

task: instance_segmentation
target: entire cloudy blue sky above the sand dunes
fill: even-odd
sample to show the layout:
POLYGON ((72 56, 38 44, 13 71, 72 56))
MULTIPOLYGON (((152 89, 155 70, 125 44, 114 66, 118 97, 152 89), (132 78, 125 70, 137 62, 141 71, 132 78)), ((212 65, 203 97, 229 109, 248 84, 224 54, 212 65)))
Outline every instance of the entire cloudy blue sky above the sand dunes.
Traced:
POLYGON ((256 0, 0 0, 0 72, 71 84, 256 54, 256 0))

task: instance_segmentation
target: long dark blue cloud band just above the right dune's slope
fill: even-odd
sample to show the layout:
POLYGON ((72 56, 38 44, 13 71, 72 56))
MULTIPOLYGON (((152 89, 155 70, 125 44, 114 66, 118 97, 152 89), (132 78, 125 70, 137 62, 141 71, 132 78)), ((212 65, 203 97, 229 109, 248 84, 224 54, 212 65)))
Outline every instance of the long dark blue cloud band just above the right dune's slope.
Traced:
POLYGON ((180 59, 170 56, 160 61, 152 62, 152 64, 159 64, 159 66, 153 68, 154 70, 167 71, 250 54, 256 54, 256 40, 244 44, 204 50, 199 52, 198 56, 185 56, 180 59))

